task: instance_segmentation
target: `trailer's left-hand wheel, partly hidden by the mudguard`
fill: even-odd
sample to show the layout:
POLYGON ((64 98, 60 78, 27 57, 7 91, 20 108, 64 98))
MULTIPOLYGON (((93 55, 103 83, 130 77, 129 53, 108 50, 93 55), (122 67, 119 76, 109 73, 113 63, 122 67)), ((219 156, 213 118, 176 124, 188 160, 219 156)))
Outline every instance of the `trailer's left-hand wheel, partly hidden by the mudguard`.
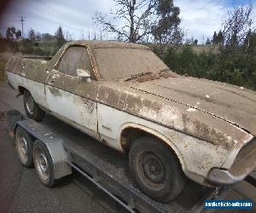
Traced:
POLYGON ((26 167, 33 166, 32 147, 32 137, 26 133, 26 130, 18 126, 15 131, 15 149, 21 164, 26 167))

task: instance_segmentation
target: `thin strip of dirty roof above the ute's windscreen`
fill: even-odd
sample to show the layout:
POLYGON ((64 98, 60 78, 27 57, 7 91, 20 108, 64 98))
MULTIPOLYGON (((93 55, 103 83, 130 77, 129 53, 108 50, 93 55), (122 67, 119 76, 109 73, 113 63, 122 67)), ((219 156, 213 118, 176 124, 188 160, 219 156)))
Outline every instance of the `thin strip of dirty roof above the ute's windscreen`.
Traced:
POLYGON ((115 41, 75 41, 67 43, 71 45, 88 45, 92 49, 101 48, 130 48, 130 49, 148 49, 147 46, 138 43, 126 43, 126 42, 115 42, 115 41))

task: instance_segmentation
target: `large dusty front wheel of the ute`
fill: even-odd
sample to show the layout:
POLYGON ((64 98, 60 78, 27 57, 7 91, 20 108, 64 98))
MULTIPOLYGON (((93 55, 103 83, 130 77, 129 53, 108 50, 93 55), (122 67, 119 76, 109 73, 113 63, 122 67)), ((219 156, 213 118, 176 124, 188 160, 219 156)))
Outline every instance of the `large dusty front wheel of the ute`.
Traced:
POLYGON ((167 203, 183 190, 183 170, 176 155, 160 140, 143 136, 134 141, 129 164, 137 187, 151 199, 167 203))

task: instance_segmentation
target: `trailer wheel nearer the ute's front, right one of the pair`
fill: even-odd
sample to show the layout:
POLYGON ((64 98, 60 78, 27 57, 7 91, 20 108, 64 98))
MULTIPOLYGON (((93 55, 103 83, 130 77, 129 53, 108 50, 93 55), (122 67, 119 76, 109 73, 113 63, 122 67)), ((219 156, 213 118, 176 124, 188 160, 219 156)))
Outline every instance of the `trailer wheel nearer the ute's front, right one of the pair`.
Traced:
POLYGON ((40 141, 33 146, 33 159, 40 181, 47 187, 55 185, 53 161, 48 149, 40 141))

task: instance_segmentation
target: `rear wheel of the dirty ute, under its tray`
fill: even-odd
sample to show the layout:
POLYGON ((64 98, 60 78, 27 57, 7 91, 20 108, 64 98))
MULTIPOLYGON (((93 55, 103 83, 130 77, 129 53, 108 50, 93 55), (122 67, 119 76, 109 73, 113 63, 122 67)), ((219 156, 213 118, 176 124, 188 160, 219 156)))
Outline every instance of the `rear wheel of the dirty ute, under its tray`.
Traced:
POLYGON ((28 118, 32 118, 36 121, 41 121, 44 118, 44 110, 38 107, 38 104, 34 101, 31 93, 26 89, 24 91, 23 101, 28 118))

